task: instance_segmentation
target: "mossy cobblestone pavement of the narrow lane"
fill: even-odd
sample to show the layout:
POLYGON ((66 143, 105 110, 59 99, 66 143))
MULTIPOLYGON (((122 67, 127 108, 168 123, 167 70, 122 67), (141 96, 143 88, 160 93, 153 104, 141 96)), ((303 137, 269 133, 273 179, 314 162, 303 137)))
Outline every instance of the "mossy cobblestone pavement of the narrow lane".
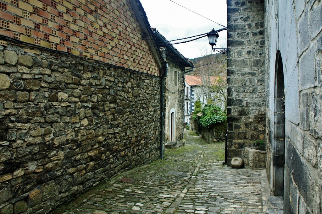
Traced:
POLYGON ((223 142, 205 144, 191 131, 185 139, 163 160, 114 177, 53 213, 266 213, 265 170, 232 169, 222 165, 223 142))

